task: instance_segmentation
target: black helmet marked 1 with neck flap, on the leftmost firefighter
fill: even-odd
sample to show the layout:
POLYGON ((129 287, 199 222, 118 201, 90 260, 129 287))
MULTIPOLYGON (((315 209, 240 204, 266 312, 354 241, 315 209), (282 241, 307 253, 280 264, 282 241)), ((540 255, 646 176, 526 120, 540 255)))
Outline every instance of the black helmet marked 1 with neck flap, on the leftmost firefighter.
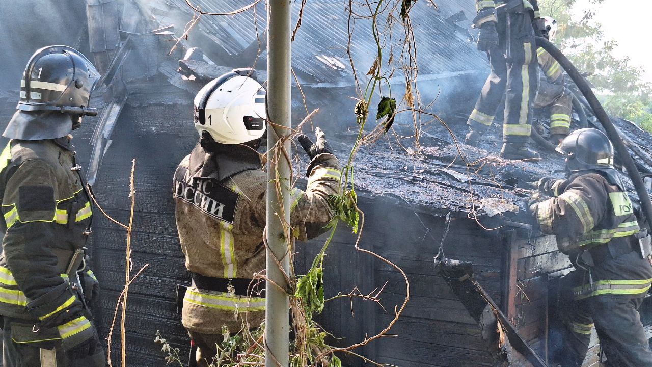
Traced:
POLYGON ((37 50, 23 72, 18 111, 3 136, 38 140, 67 135, 82 116, 96 116, 88 104, 98 80, 93 63, 72 47, 37 50))

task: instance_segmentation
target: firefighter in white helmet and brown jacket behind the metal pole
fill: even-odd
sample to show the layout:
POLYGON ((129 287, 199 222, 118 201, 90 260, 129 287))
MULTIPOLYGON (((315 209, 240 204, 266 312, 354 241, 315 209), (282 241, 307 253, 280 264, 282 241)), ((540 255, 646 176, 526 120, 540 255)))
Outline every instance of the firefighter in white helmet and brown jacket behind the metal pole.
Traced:
MULTIPOLYGON (((256 152, 265 134, 265 89, 252 72, 236 69, 198 93, 200 141, 173 182, 181 249, 192 272, 182 323, 197 347, 198 366, 211 364, 223 327, 237 334, 243 321, 254 329, 265 317, 264 295, 248 293, 254 274, 265 270, 267 220, 267 175, 256 152)), ((325 232, 333 217, 327 199, 338 191, 340 163, 321 130, 316 144, 305 135, 299 142, 311 161, 306 191, 293 189, 290 224, 306 240, 325 232)))

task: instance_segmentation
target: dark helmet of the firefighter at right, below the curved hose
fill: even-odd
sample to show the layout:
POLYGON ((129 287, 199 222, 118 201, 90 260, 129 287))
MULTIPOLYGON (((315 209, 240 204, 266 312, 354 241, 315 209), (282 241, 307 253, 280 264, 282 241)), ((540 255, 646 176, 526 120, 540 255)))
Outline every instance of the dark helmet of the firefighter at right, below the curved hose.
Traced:
POLYGON ((598 129, 573 131, 556 150, 566 157, 569 172, 614 168, 614 146, 598 129))

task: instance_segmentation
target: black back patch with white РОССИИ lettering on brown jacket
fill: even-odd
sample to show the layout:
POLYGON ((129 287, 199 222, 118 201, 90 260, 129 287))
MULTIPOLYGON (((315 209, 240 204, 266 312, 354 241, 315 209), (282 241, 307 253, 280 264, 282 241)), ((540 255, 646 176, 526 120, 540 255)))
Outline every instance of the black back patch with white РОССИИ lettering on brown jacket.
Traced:
POLYGON ((240 195, 211 178, 192 178, 188 168, 174 175, 175 197, 189 202, 205 214, 233 224, 240 195))

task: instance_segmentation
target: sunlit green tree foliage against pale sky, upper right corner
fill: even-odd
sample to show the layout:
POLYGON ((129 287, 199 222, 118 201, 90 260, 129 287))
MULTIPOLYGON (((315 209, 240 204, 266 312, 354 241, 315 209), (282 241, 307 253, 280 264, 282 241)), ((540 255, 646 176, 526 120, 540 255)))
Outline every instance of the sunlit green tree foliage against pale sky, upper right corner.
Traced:
POLYGON ((604 0, 591 0, 583 16, 573 17, 576 0, 540 0, 542 14, 557 20, 559 29, 553 40, 580 72, 595 86, 604 109, 609 114, 638 123, 652 131, 652 84, 642 80, 643 70, 630 65, 629 57, 613 55, 615 40, 604 39, 602 24, 593 20, 595 8, 604 0))

